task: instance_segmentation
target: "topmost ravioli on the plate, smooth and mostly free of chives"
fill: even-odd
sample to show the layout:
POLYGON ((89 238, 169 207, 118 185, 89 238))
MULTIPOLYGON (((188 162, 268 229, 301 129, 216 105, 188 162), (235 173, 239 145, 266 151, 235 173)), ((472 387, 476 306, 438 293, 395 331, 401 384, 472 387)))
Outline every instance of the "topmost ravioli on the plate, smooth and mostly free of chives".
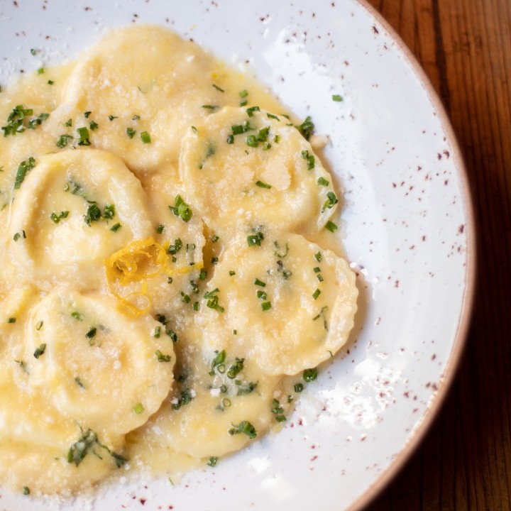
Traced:
POLYGON ((121 156, 135 172, 172 172, 183 133, 221 94, 211 87, 214 69, 197 45, 162 28, 114 31, 82 55, 62 108, 72 106, 76 126, 96 122, 92 146, 121 156))

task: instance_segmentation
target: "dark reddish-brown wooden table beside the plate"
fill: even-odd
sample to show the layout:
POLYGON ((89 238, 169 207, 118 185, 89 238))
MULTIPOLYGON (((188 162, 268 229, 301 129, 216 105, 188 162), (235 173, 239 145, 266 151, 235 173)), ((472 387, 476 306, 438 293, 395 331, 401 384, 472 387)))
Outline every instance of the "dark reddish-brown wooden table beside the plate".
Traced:
POLYGON ((511 0, 369 0, 461 145, 478 231, 466 352, 422 444, 368 511, 511 510, 511 0))

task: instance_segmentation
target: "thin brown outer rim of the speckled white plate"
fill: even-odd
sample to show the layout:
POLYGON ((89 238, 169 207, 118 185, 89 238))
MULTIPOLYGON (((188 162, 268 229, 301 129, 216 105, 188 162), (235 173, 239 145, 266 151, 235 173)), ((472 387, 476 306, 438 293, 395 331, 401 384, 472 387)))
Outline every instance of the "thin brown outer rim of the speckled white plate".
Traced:
POLYGON ((397 44, 400 51, 407 60, 407 63, 412 68, 412 71, 421 82, 422 86, 426 90, 432 105, 436 109, 439 114, 439 121, 441 122, 442 127, 446 133, 447 138, 449 138, 449 143, 453 149, 453 155, 456 159, 456 168, 459 171, 459 179, 461 189, 463 190, 463 205, 465 207, 466 214, 466 277, 465 277, 465 290, 463 293, 463 306, 461 308, 461 314, 458 320, 458 329, 456 331, 456 336, 453 341, 452 349, 451 349, 451 357, 448 361, 446 361, 444 378, 442 378, 441 383, 439 385, 439 389, 436 392, 434 400, 431 405, 428 407, 427 412, 422 417, 422 420, 419 426, 414 430, 414 433, 410 435, 409 439, 407 439, 407 444, 403 447, 400 455, 397 456, 389 466, 383 471, 379 478, 375 480, 375 482, 368 487, 363 495, 359 496, 354 502, 352 502, 351 506, 348 507, 350 511, 361 510, 364 507, 368 506, 375 498, 378 497, 380 492, 388 485, 393 478, 397 476, 398 473, 405 466, 407 461, 410 460, 416 449, 419 448, 422 441, 424 441, 427 432, 434 424, 434 419, 436 419, 437 415, 441 411, 441 407, 444 405, 447 395, 449 395, 449 390, 451 389, 451 385, 456 378, 456 374, 458 373, 458 367, 461 363, 461 358, 465 351, 466 346, 466 338, 468 335, 468 329, 471 324, 472 317, 472 309, 473 309, 473 300, 476 291, 476 275, 477 275, 477 248, 476 248, 476 219, 473 211, 473 201, 471 194, 471 187, 468 181, 468 173, 466 170, 466 165, 463 159, 463 154, 461 151, 461 147, 458 143, 458 138, 456 137, 456 133, 451 124, 451 120, 449 119, 449 115, 442 104, 439 95, 436 94, 436 91, 433 87, 432 82, 426 75, 426 72, 419 64, 419 61, 414 56, 410 48, 408 48, 407 44, 400 37, 400 35, 390 26, 390 23, 385 20, 383 15, 377 11, 373 6, 371 6, 366 0, 356 0, 358 4, 363 9, 366 9, 370 16, 375 18, 380 26, 390 35, 390 38, 397 44))

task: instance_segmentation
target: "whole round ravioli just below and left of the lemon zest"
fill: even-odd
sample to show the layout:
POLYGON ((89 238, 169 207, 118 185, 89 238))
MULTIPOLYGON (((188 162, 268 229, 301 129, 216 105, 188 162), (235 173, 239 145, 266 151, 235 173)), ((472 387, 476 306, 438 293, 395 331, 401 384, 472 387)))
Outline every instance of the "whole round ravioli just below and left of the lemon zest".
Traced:
POLYGON ((116 300, 55 290, 26 325, 30 383, 83 428, 123 434, 141 426, 173 381, 172 340, 150 316, 120 312, 116 300))

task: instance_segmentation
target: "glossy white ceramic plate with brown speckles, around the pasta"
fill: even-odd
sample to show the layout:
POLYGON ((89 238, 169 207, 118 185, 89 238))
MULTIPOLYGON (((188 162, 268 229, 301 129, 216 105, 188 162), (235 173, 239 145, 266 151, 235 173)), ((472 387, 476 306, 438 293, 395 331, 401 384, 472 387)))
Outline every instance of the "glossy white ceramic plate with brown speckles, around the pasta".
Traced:
MULTIPOLYGON (((344 187, 360 311, 350 345, 307 387, 280 434, 180 485, 120 484, 60 509, 360 507, 424 434, 467 329, 473 224, 444 111, 402 43, 356 0, 4 1, 2 81, 75 57, 104 28, 133 22, 163 24, 229 62, 249 62, 292 111, 329 134, 324 157, 344 187)), ((31 499, 0 493, 10 511, 31 499)))

